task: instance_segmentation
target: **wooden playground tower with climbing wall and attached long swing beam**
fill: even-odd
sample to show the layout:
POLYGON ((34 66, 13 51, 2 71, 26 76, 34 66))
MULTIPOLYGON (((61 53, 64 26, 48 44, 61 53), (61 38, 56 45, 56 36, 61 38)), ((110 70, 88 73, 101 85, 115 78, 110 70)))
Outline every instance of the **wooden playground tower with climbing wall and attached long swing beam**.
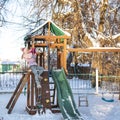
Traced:
MULTIPOLYGON (((58 101, 58 103, 55 104, 55 89, 56 89, 56 87, 58 88, 58 86, 55 85, 55 87, 53 89, 49 88, 50 84, 54 84, 53 82, 51 83, 49 80, 49 77, 51 75, 50 72, 53 68, 53 66, 50 65, 51 56, 54 51, 56 51, 55 59, 57 59, 56 66, 54 66, 54 68, 55 69, 64 68, 66 73, 68 72, 68 70, 67 70, 67 55, 69 52, 81 52, 81 53, 84 53, 84 52, 93 52, 93 53, 120 52, 120 48, 115 48, 115 47, 108 47, 108 48, 100 47, 100 48, 85 48, 85 49, 67 48, 67 40, 69 40, 70 38, 71 37, 70 37, 69 33, 64 32, 63 30, 61 30, 59 27, 57 27, 51 21, 45 22, 38 29, 35 29, 34 31, 32 31, 30 33, 30 36, 26 36, 25 44, 34 45, 34 47, 36 48, 36 50, 38 52, 38 56, 37 56, 38 65, 43 66, 46 69, 43 73, 43 80, 42 80, 43 83, 41 83, 42 88, 41 88, 41 90, 38 90, 38 89, 36 89, 36 87, 34 87, 35 86, 34 75, 30 71, 28 71, 21 78, 13 96, 11 97, 8 105, 6 106, 8 108, 8 113, 11 113, 11 111, 12 111, 12 109, 13 109, 13 107, 14 107, 14 105, 26 83, 28 84, 26 109, 29 114, 36 113, 36 111, 37 111, 36 105, 39 102, 42 103, 44 112, 45 112, 45 108, 49 108, 53 112, 58 112, 56 110, 53 110, 52 108, 55 108, 58 106, 60 108, 62 107, 61 103, 59 101, 58 101), (46 64, 46 58, 47 58, 48 64, 46 64), (38 93, 41 91, 42 91, 42 96, 41 96, 41 99, 39 99, 40 100, 39 101, 38 93), (53 95, 50 94, 51 91, 53 91, 53 95)), ((61 87, 61 85, 59 85, 59 87, 61 87)), ((60 93, 58 92, 57 94, 59 96, 60 93)), ((63 113, 63 114, 65 114, 65 113, 63 113)))

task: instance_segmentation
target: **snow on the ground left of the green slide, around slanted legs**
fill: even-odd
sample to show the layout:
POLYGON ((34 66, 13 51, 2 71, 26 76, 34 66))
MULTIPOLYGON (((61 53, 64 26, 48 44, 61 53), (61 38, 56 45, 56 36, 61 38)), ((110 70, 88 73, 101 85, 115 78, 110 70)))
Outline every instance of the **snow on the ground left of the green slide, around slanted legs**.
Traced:
POLYGON ((26 95, 21 94, 17 103, 15 104, 11 114, 8 114, 6 105, 12 94, 0 94, 0 120, 63 120, 61 113, 53 114, 50 110, 46 113, 39 115, 29 115, 26 110, 26 95))

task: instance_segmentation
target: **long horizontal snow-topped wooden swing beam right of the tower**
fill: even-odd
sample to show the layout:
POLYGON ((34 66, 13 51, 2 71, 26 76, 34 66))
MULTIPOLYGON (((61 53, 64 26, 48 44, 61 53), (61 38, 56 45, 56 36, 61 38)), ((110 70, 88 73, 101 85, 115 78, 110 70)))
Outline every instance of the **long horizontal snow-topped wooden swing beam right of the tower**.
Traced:
POLYGON ((120 52, 116 47, 67 48, 69 52, 120 52))

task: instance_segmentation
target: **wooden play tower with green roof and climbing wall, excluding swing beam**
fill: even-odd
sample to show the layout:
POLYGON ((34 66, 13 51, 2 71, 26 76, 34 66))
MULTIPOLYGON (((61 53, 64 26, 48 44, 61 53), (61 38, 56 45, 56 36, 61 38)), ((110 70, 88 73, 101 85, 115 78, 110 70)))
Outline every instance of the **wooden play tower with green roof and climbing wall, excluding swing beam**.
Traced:
MULTIPOLYGON (((50 70, 50 49, 55 48, 57 49, 57 68, 61 68, 62 66, 65 66, 66 64, 66 54, 60 54, 60 49, 66 50, 66 39, 70 38, 70 36, 64 35, 65 32, 62 31, 60 28, 58 28, 54 23, 52 22, 46 22, 42 26, 42 35, 33 35, 36 34, 36 31, 33 31, 31 33, 31 36, 25 37, 25 44, 26 45, 32 45, 36 48, 36 51, 38 52, 37 56, 37 63, 40 66, 43 66, 45 68, 45 71, 43 72, 43 80, 42 80, 42 88, 37 89, 34 82, 34 75, 31 72, 27 72, 23 75, 21 78, 16 90, 14 91, 9 103, 7 104, 6 108, 8 109, 8 113, 10 114, 15 106, 15 103, 17 102, 17 99, 20 96, 20 93, 22 93, 22 89, 27 84, 27 106, 26 110, 29 114, 33 115, 37 112, 37 107, 42 108, 43 112, 45 112, 46 108, 49 108, 52 110, 52 108, 58 107, 58 103, 55 105, 55 87, 49 88, 49 85, 53 85, 53 82, 49 82, 49 70, 50 70), (46 29, 47 28, 47 29, 46 29), (60 34, 62 36, 53 36, 50 35, 50 31, 52 31, 55 35, 60 34), (48 35, 45 35, 45 33, 48 33, 48 35), (40 52, 39 52, 40 51, 40 52), (47 51, 47 52, 46 52, 47 51), (47 65, 46 65, 46 53, 47 53, 47 65), (60 62, 60 59, 64 60, 64 62, 60 62), (50 95, 50 92, 52 91, 53 95, 50 95), (42 96, 38 96, 39 92, 42 92, 42 96), (42 107, 37 106, 38 103, 42 104, 42 107)), ((38 28, 38 30, 40 30, 38 28)), ((52 33, 52 34, 53 34, 52 33)), ((37 32, 38 34, 38 32, 37 32)), ((67 33, 68 34, 68 33, 67 33)), ((52 110, 52 112, 59 112, 59 110, 52 110)))

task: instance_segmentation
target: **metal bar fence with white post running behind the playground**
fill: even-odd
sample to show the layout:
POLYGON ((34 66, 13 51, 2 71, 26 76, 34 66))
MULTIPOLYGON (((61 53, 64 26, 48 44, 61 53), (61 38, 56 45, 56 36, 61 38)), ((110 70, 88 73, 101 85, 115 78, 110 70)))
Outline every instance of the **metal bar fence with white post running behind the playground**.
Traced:
MULTIPOLYGON (((14 92, 15 88, 17 87, 21 77, 22 77, 23 72, 0 72, 0 92, 14 92)), ((85 74, 84 74, 85 75, 85 74)), ((82 74, 83 76, 83 74, 82 74)), ((86 76, 86 75, 85 75, 86 76)), ((71 86, 71 89, 73 90, 73 93, 79 93, 79 92, 100 92, 98 91, 98 79, 99 78, 95 78, 94 79, 97 80, 95 83, 95 86, 93 87, 93 83, 92 83, 92 78, 91 74, 89 76, 89 79, 81 79, 81 77, 79 78, 78 76, 74 76, 72 75, 72 77, 67 76, 69 79, 69 83, 71 86), (95 90, 95 89, 96 90, 95 90)), ((83 77, 84 78, 84 77, 83 77)), ((107 90, 108 87, 113 89, 114 87, 114 91, 120 91, 120 80, 118 82, 112 82, 110 84, 109 81, 101 81, 101 88, 106 88, 107 86, 107 90), (109 83, 108 85, 107 82, 109 83), (112 84, 112 88, 109 87, 112 84)))

